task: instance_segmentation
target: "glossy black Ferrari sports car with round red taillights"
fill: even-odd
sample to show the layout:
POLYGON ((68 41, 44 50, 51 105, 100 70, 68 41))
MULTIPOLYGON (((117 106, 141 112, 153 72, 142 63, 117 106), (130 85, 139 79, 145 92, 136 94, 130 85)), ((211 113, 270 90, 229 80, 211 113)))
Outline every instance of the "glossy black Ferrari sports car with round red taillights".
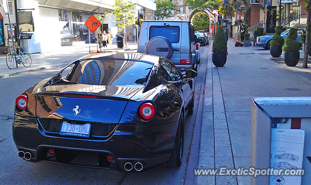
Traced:
POLYGON ((18 156, 126 171, 180 166, 196 75, 153 55, 86 55, 17 97, 18 156))

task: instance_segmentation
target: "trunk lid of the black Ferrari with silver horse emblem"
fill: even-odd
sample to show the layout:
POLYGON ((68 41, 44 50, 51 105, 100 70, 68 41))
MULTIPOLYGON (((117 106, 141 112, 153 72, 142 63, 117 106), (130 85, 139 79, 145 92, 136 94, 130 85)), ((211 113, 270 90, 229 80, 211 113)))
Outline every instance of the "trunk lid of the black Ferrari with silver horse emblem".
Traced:
POLYGON ((143 87, 62 82, 38 92, 36 118, 118 123, 128 100, 143 87))

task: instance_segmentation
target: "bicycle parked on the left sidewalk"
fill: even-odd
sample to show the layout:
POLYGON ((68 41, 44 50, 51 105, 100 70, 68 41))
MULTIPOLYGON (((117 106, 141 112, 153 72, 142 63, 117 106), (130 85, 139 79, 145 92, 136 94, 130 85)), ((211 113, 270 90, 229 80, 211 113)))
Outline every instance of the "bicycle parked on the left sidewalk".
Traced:
POLYGON ((9 48, 10 50, 10 52, 8 52, 8 54, 6 55, 6 65, 9 67, 9 69, 13 69, 14 64, 16 63, 15 61, 17 61, 17 64, 19 65, 21 63, 25 67, 30 67, 31 62, 32 62, 30 55, 27 52, 22 52, 23 48, 18 47, 18 46, 17 46, 17 50, 18 50, 18 54, 17 54, 11 49, 11 47, 12 46, 6 47, 6 48, 9 48))

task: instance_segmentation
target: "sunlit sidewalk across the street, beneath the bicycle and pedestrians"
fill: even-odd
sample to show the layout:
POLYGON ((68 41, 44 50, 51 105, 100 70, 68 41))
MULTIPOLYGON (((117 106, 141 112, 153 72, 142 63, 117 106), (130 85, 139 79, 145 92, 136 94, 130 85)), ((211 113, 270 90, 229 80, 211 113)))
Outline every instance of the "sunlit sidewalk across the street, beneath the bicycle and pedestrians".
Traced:
MULTIPOLYGON (((137 44, 137 43, 136 43, 137 44)), ((117 43, 112 43, 112 46, 107 48, 102 48, 102 50, 107 51, 118 51, 118 52, 126 52, 126 51, 135 51, 137 50, 138 45, 135 45, 133 41, 128 41, 127 48, 117 48, 117 43)), ((98 48, 98 50, 100 50, 98 48)), ((91 43, 91 52, 96 51, 96 43, 91 43)), ((7 78, 19 73, 41 70, 52 67, 65 66, 69 62, 72 62, 84 55, 89 53, 89 44, 85 44, 85 42, 73 42, 72 46, 62 46, 59 47, 58 50, 54 50, 52 52, 43 52, 43 53, 35 53, 30 54, 32 58, 32 64, 30 67, 18 66, 18 68, 14 67, 13 69, 9 69, 6 65, 6 54, 0 55, 0 79, 7 78)))

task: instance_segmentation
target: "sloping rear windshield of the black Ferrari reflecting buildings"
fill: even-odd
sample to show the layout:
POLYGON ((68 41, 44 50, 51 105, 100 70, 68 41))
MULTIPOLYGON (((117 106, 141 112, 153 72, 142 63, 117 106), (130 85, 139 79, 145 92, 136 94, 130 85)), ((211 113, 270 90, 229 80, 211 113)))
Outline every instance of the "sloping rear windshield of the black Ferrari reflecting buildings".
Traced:
POLYGON ((90 85, 143 84, 152 67, 153 64, 130 60, 87 60, 79 62, 67 80, 90 85))

